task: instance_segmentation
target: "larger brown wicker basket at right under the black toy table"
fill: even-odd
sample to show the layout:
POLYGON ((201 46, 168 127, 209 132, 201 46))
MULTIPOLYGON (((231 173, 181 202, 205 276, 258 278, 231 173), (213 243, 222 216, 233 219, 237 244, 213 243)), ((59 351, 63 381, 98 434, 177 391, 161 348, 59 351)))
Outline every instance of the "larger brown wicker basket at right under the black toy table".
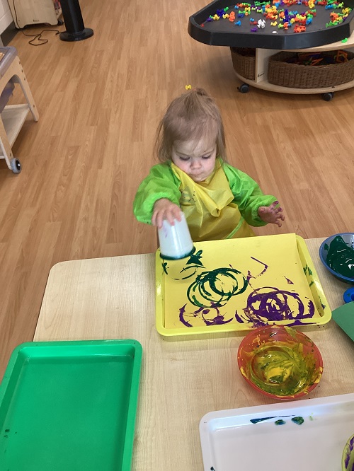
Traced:
MULTIPOLYGON (((337 51, 323 54, 334 57, 337 51)), ((347 52, 348 62, 326 65, 298 65, 285 61, 297 57, 294 52, 278 52, 269 59, 268 81, 274 85, 290 88, 326 88, 354 79, 354 54, 347 52)))

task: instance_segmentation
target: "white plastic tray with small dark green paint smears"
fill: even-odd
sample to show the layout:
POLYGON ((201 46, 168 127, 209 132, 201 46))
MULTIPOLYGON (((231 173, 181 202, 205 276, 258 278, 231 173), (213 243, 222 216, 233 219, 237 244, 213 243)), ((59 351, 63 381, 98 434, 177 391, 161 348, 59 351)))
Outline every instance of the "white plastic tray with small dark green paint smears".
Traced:
POLYGON ((205 471, 341 471, 354 394, 210 412, 199 430, 205 471), (251 422, 265 417, 273 418, 251 422))

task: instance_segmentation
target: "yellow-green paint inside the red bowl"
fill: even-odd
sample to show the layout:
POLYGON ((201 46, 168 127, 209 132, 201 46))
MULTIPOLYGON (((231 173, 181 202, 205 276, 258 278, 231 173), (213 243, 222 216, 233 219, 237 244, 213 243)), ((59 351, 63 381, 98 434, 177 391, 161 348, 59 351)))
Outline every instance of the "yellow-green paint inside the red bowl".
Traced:
POLYGON ((278 396, 305 392, 319 379, 312 354, 304 356, 302 344, 272 342, 255 349, 249 365, 251 380, 258 388, 278 396))

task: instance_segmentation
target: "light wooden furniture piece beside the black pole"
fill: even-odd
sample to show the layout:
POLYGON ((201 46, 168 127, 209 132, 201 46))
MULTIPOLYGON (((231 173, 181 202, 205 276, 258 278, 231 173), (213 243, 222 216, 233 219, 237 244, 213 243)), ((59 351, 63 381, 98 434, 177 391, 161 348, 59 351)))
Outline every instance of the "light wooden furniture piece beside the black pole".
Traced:
POLYGON ((54 0, 8 0, 16 28, 45 23, 57 25, 62 14, 59 1, 54 0))

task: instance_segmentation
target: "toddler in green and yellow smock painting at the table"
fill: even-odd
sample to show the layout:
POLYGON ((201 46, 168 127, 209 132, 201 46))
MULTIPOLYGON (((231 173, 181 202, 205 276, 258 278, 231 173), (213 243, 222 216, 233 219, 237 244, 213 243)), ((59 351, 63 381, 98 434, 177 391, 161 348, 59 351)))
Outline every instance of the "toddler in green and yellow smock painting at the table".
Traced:
POLYGON ((193 241, 254 236, 250 226, 282 225, 275 197, 227 163, 224 125, 202 88, 169 105, 156 134, 159 158, 137 190, 138 221, 161 228, 185 214, 193 241))

